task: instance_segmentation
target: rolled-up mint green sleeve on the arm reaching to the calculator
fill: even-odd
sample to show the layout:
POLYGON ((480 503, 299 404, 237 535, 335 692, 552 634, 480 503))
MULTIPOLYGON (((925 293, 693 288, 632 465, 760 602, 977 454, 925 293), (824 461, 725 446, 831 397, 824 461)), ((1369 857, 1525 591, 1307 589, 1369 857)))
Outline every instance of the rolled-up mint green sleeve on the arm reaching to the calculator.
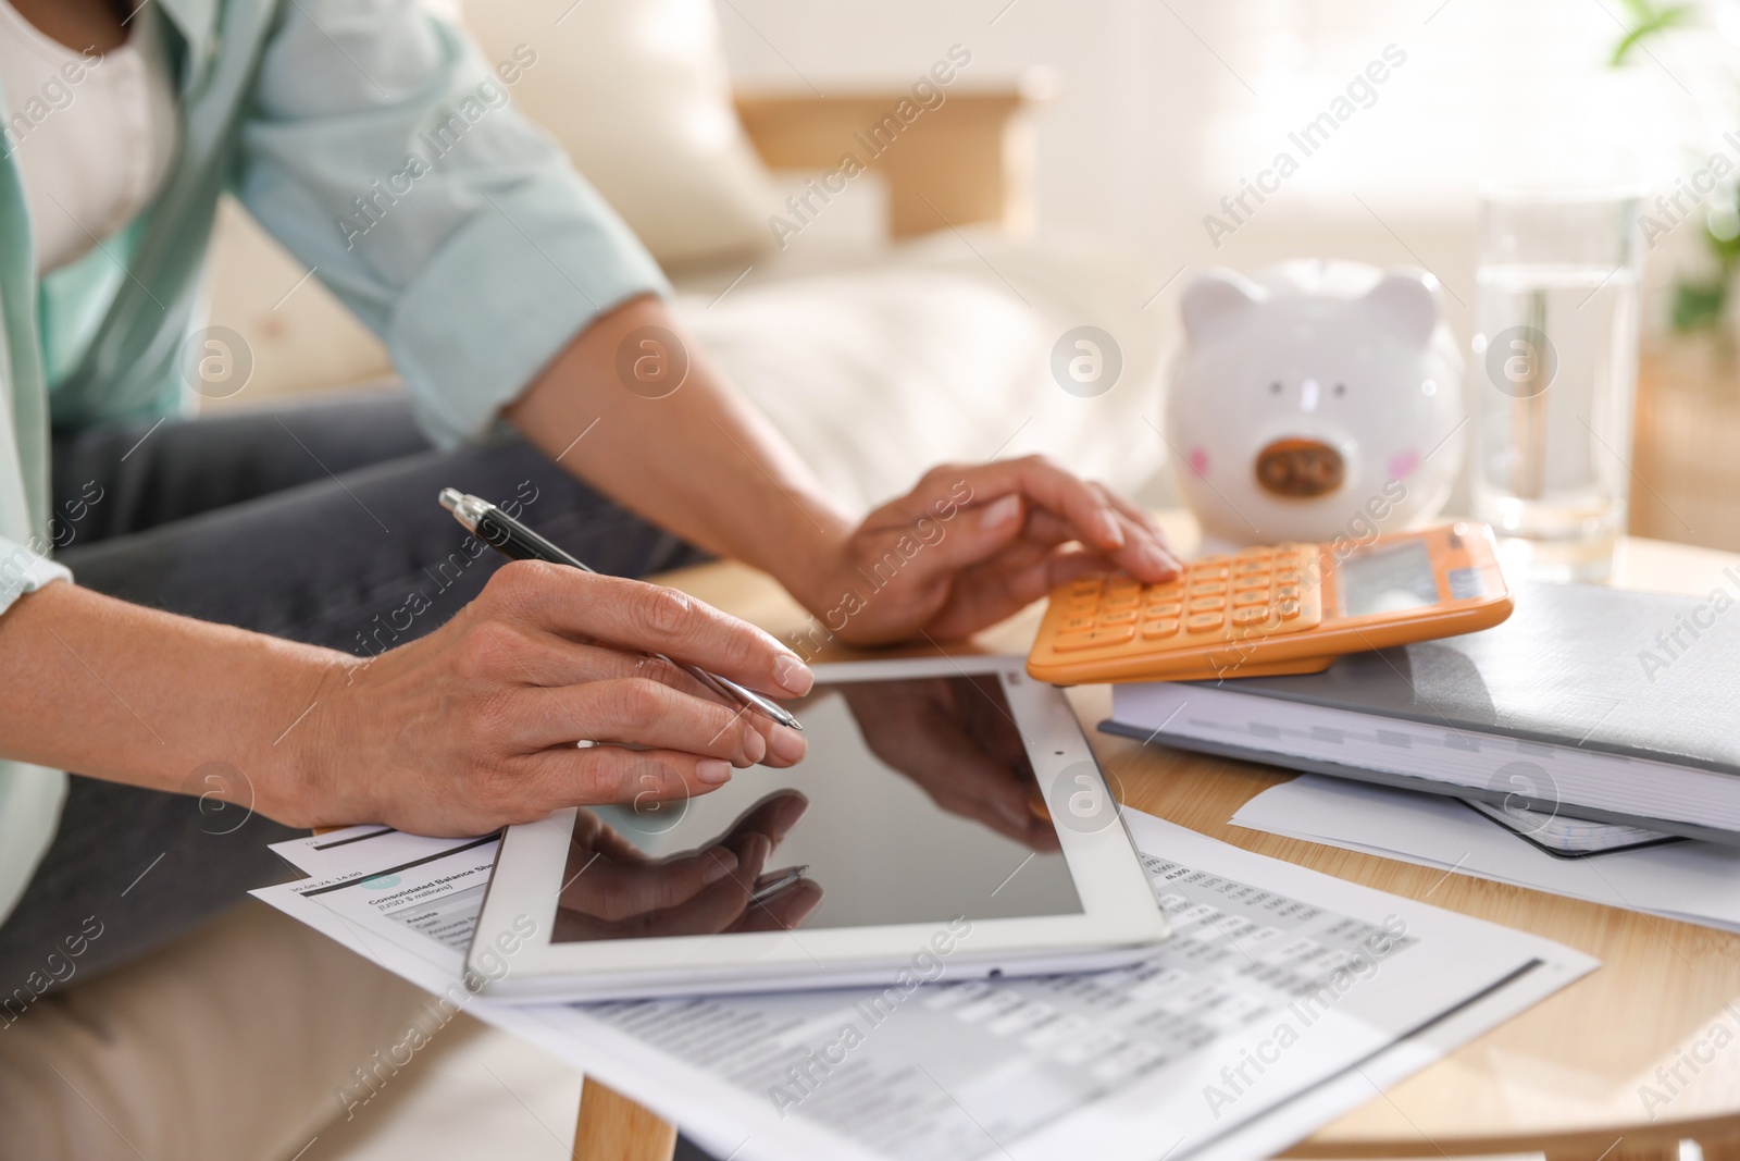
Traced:
MULTIPOLYGON (((658 263, 419 0, 298 0, 261 57, 237 190, 392 352, 440 444, 485 430, 658 263)), ((599 111, 607 117, 607 110, 599 111)))

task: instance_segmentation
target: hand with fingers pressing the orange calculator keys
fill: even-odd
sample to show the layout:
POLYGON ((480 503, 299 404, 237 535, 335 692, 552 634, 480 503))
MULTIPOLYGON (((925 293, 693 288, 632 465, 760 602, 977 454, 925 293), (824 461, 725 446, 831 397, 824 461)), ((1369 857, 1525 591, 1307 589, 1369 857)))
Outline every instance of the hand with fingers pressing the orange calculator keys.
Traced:
POLYGON ((783 578, 839 639, 884 644, 966 637, 1107 569, 1159 583, 1178 555, 1147 512, 1030 456, 934 468, 783 578))

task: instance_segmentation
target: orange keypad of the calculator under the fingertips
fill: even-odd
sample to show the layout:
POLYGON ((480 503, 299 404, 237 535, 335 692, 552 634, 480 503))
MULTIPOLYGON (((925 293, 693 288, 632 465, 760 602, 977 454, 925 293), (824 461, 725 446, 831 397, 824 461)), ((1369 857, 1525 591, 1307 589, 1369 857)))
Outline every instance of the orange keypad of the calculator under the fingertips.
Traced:
POLYGON ((1060 620, 1051 648, 1166 653, 1315 628, 1322 609, 1305 580, 1315 552, 1315 545, 1277 545, 1204 557, 1164 585, 1122 574, 1082 578, 1053 594, 1060 620))

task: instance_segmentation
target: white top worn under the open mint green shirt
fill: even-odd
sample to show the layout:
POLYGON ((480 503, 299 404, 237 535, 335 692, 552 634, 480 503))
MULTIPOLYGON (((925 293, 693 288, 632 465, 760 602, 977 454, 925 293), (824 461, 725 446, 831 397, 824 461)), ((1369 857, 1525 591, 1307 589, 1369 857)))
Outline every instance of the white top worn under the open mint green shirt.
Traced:
POLYGON ((0 0, 5 150, 24 183, 38 275, 132 221, 174 162, 181 122, 155 5, 129 30, 113 52, 77 52, 0 0))

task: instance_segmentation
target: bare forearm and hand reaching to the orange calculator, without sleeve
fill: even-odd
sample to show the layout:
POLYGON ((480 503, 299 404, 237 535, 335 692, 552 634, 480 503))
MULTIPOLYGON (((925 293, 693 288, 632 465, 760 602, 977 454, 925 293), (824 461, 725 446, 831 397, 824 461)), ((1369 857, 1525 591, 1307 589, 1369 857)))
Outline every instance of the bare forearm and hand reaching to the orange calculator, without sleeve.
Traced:
POLYGON ((853 642, 962 637, 1082 573, 1178 569, 1148 513, 1042 458, 945 465, 853 520, 656 298, 599 317, 505 414, 618 503, 773 573, 853 642), (642 346, 647 327, 680 350, 642 346), (635 359, 687 360, 687 378, 635 390, 635 359))

